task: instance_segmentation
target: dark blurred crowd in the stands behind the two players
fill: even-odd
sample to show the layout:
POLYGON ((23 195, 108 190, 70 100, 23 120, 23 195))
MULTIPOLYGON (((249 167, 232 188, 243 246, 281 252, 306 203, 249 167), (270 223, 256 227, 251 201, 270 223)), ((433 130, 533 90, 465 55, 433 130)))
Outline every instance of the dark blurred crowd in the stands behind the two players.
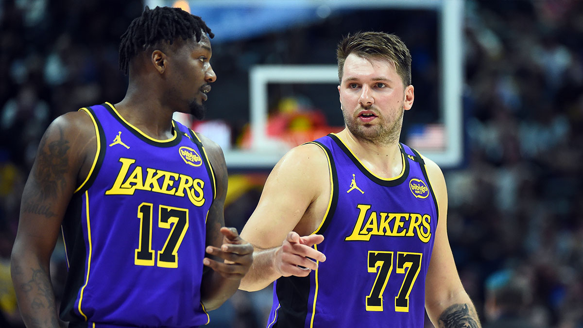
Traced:
MULTIPOLYGON (((127 80, 117 69, 118 40, 143 3, 0 4, 0 327, 20 327, 9 257, 38 142, 66 111, 122 99, 127 80)), ((319 47, 328 64, 335 43, 319 47)), ((213 46, 213 67, 229 72, 261 61, 250 58, 252 46, 213 46), (247 56, 227 57, 237 49, 247 56)), ((265 58, 293 62, 294 54, 287 56, 265 58)), ((466 157, 444 170, 449 241, 463 284, 484 326, 583 327, 583 1, 466 1, 464 60, 466 157)), ((246 71, 234 71, 247 81, 246 71)), ((230 80, 224 74, 217 83, 230 80)), ((424 95, 417 96, 423 104, 424 95)), ((406 120, 415 121, 414 111, 406 120)), ((236 138, 243 124, 230 124, 236 138)), ((237 228, 257 204, 265 175, 231 180, 237 192, 226 218, 237 228), (247 183, 238 184, 241 179, 247 183)), ((57 289, 63 259, 58 246, 57 289)), ((236 294, 217 310, 224 315, 216 327, 263 326, 265 302, 236 294)))

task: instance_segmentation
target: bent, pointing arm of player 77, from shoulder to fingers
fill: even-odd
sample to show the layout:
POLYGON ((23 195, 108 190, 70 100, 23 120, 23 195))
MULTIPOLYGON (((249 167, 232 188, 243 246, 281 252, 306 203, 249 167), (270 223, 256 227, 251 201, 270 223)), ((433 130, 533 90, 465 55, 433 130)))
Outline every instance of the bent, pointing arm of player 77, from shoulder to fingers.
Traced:
POLYGON ((330 196, 328 161, 314 144, 298 146, 273 168, 259 204, 241 236, 254 246, 253 264, 240 289, 257 291, 282 276, 304 277, 325 261, 312 245, 324 237, 311 235, 324 215, 330 196))

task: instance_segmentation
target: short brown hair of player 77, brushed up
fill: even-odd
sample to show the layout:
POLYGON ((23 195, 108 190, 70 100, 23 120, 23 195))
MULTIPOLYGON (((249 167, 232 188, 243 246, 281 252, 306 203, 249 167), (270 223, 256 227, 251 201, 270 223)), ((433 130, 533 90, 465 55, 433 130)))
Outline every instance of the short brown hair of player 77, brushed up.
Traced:
POLYGON ((382 58, 395 63, 397 74, 403 85, 411 84, 411 54, 405 43, 395 34, 383 32, 358 32, 348 34, 336 49, 338 79, 342 82, 344 63, 349 54, 363 58, 382 58))

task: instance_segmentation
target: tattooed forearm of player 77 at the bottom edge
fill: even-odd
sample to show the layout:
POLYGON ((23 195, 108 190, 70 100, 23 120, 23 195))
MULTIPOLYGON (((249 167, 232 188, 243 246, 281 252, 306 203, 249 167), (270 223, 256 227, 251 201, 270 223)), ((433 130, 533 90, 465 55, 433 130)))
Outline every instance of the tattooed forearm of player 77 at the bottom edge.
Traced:
POLYGON ((428 308, 427 313, 433 324, 439 328, 482 327, 476 308, 465 291, 437 304, 433 309, 428 308))

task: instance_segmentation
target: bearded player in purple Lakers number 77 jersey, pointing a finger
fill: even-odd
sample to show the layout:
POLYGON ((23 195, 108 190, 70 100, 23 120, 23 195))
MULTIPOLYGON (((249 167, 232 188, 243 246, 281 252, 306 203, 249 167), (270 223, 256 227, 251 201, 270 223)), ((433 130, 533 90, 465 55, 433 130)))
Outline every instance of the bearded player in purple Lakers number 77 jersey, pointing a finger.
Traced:
POLYGON ((399 143, 411 58, 392 34, 338 46, 346 128, 288 152, 241 232, 241 289, 272 281, 268 327, 479 327, 447 238, 440 168, 399 143))

